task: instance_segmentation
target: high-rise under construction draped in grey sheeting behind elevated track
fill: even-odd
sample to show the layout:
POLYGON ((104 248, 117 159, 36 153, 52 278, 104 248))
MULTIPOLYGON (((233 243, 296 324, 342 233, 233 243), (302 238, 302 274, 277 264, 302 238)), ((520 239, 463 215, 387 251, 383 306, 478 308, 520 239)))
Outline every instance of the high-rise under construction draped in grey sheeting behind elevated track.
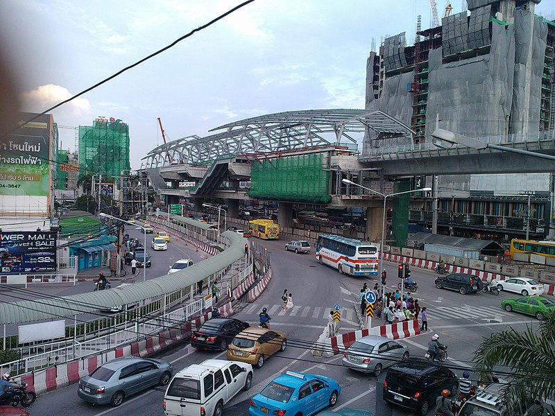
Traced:
MULTIPOLYGON (((366 108, 397 117, 416 135, 366 137, 363 157, 376 147, 418 147, 436 128, 490 139, 553 137, 555 23, 535 14, 540 0, 467 3, 468 10, 455 15, 447 10, 433 28, 422 30, 418 17, 413 45, 400 33, 386 38, 379 54, 370 53, 366 108)), ((438 205, 429 202, 428 212, 411 212, 411 222, 429 225, 428 214, 436 209, 448 218, 443 232, 447 225, 451 232, 456 228, 459 214, 470 220, 459 224, 466 234, 495 228, 484 227, 487 216, 529 216, 531 237, 549 232, 552 173, 443 175, 438 184, 438 205), (527 198, 531 205, 525 209, 527 198)))

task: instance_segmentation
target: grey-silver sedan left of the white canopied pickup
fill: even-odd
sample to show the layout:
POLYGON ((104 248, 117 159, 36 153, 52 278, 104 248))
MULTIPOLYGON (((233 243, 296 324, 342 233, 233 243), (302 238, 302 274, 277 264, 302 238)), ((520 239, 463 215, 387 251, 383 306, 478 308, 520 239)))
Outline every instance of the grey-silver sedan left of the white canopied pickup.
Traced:
POLYGON ((92 404, 119 406, 130 395, 171 380, 171 364, 153 358, 121 357, 79 380, 77 395, 92 404))

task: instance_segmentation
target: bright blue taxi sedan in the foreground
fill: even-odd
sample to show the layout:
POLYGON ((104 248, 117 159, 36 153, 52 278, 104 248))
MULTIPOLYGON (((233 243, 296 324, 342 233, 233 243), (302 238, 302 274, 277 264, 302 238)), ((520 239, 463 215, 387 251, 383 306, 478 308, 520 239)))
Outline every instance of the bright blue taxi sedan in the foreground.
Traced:
POLYGON ((248 414, 310 416, 334 406, 341 393, 337 381, 318 374, 288 371, 266 385, 250 400, 248 414))

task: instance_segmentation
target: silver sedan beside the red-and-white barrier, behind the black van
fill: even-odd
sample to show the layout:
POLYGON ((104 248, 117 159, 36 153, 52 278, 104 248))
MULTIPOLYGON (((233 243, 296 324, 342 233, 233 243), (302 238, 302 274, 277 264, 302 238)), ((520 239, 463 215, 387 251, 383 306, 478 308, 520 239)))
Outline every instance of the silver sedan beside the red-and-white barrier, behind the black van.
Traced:
POLYGON ((379 376, 384 367, 391 367, 409 358, 409 348, 384 336, 368 335, 345 349, 342 364, 353 370, 373 372, 379 376))

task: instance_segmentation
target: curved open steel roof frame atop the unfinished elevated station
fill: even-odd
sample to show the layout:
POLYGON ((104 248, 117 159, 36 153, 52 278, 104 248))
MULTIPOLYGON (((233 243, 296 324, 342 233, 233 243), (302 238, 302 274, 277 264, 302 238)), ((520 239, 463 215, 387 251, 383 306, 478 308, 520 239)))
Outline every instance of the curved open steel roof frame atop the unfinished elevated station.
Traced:
POLYGON ((151 150, 146 168, 202 164, 223 157, 273 153, 316 146, 357 143, 356 135, 373 132, 414 134, 411 128, 379 110, 301 110, 265 114, 221 125, 214 135, 183 137, 151 150))

